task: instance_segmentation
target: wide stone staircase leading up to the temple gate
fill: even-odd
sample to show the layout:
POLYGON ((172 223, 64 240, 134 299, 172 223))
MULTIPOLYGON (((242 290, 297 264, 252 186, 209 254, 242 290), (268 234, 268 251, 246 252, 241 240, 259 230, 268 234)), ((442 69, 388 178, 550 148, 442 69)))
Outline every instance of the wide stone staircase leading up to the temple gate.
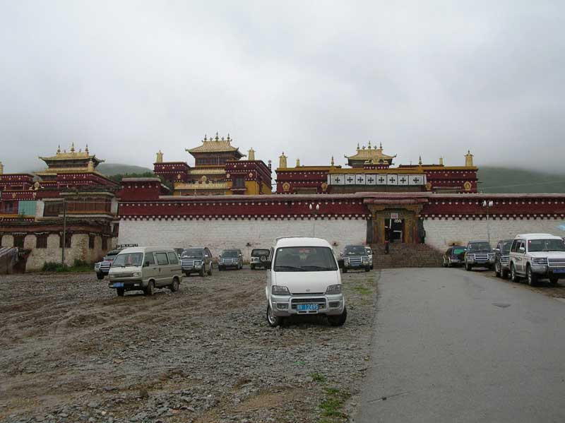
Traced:
POLYGON ((391 244, 384 254, 384 244, 373 244, 373 265, 386 268, 433 268, 440 267, 443 254, 426 244, 391 244))

